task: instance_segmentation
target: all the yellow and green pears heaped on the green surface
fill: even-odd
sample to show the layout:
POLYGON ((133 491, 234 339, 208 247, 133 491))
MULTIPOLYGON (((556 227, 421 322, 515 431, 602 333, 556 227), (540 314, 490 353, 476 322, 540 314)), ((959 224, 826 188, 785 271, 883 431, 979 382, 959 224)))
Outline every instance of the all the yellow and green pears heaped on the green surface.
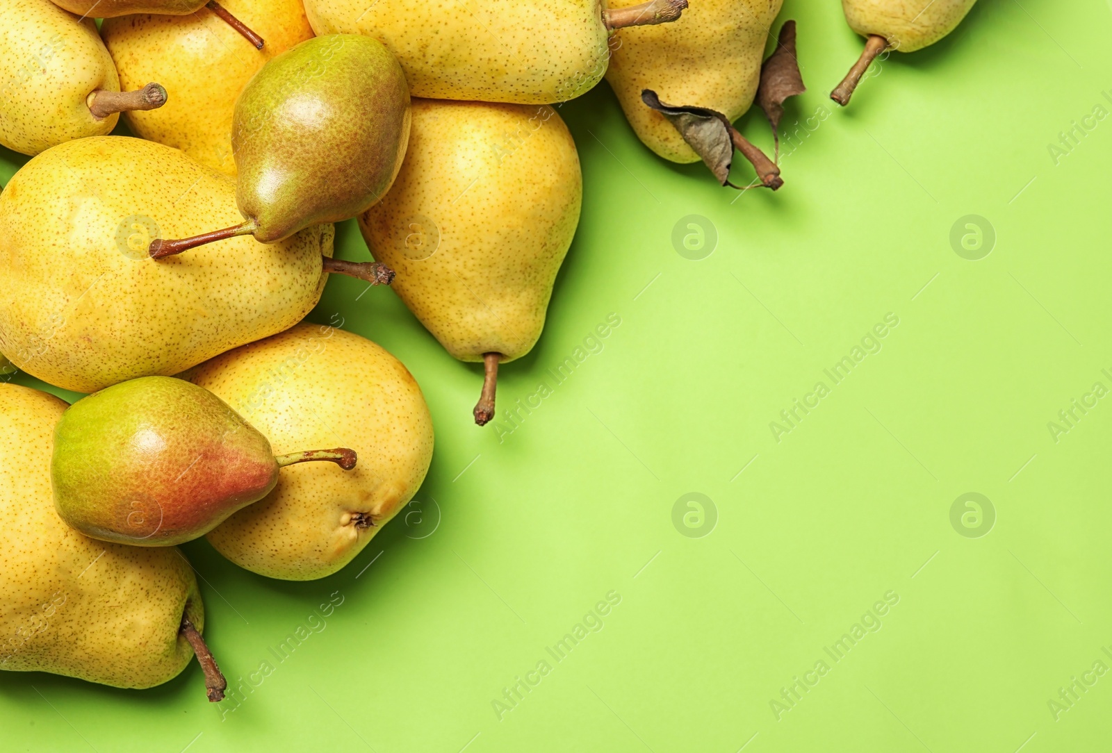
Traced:
MULTIPOLYGON (((843 0, 873 60, 974 0, 843 0)), ((544 329, 583 202, 554 104, 607 79, 644 144, 723 185, 776 164, 804 91, 782 0, 0 0, 0 669, 226 681, 178 544, 330 575, 419 489, 433 420, 390 353, 306 323, 330 274, 391 287, 455 359, 544 329), (96 19, 100 19, 99 22, 96 19), (111 135, 120 117, 137 137, 111 135), (371 260, 334 258, 355 219, 371 260), (26 372, 87 396, 10 383, 26 372)), ((741 187, 735 187, 741 188, 741 187)))

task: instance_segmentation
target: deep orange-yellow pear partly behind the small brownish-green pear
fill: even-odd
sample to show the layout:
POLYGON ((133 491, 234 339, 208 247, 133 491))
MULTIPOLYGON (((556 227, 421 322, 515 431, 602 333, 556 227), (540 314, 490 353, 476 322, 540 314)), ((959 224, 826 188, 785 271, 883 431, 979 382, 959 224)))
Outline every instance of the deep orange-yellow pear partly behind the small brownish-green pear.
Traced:
POLYGON ((106 19, 100 36, 125 91, 158 81, 172 94, 157 110, 123 113, 131 131, 176 147, 201 164, 236 174, 236 98, 264 63, 312 37, 300 0, 221 0, 266 44, 256 50, 211 10, 190 16, 106 19))

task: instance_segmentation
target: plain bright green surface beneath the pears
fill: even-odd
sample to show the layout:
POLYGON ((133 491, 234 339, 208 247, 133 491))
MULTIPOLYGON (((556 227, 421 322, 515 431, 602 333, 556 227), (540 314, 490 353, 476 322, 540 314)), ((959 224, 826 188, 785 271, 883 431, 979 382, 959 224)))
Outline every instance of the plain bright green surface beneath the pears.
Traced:
MULTIPOLYGON (((187 545, 238 701, 208 704, 196 666, 148 692, 6 674, 0 747, 1109 750, 1112 674, 1085 673, 1112 667, 1112 399, 1085 395, 1112 389, 1112 120, 1090 120, 1056 164, 1049 144, 1112 111, 1112 12, 984 0, 950 39, 883 63, 845 111, 826 92, 861 40, 838 3, 788 0, 783 18, 798 20, 811 87, 786 123, 820 116, 784 144, 778 193, 738 198, 656 159, 605 84, 560 109, 583 222, 499 405, 540 382, 552 394, 516 426, 500 419, 502 442, 470 423, 475 365, 389 291, 356 300, 361 283, 330 281, 311 319, 338 313, 385 345, 429 401, 424 522, 398 519, 315 583, 187 545), (689 214, 717 237, 702 260, 673 247, 689 214), (971 214, 995 235, 975 261, 951 243, 971 214), (548 370, 612 314, 602 350, 588 340, 556 384, 548 370), (886 317, 898 324, 863 342, 886 317), (835 383, 825 370, 854 355, 835 383), (817 406, 788 424, 796 399, 817 406), (1095 406, 1071 428, 1059 411, 1074 399, 1095 406), (970 508, 952 523, 969 492, 990 501, 981 522, 970 508), (684 510, 674 524, 688 493, 712 501, 703 529, 694 509, 694 530, 684 510), (713 531, 685 535, 711 529, 712 505, 713 531), (327 626, 278 662, 270 649, 332 593, 327 626), (620 602, 585 618, 607 594, 620 602), (557 661, 547 649, 577 624, 557 661), (526 676, 538 684, 499 712, 526 676), (796 677, 814 686, 785 692, 791 705, 796 677), (1093 685, 1070 707, 1074 677, 1093 685)), ((771 145, 758 112, 742 126, 771 145)), ((21 160, 4 157, 7 180, 21 160)), ((350 222, 339 239, 368 258, 350 222)))

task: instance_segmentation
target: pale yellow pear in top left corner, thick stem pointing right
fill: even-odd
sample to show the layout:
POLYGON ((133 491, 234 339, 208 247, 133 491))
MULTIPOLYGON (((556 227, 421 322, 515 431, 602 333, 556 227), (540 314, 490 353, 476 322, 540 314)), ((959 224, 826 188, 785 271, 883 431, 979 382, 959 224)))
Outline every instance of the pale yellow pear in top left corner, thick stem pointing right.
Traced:
POLYGON ((91 18, 50 0, 0 0, 0 144, 38 154, 116 128, 119 113, 166 102, 149 83, 120 93, 112 59, 91 18))

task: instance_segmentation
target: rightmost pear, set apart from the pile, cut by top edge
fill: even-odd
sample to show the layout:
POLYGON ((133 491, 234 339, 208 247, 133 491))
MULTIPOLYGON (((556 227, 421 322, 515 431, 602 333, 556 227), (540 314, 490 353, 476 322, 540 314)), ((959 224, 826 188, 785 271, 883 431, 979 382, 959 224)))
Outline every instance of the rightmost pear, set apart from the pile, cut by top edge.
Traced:
POLYGON ((850 103, 861 78, 885 50, 914 52, 934 44, 961 23, 976 0, 842 0, 850 28, 865 38, 865 51, 831 92, 841 106, 850 103))

